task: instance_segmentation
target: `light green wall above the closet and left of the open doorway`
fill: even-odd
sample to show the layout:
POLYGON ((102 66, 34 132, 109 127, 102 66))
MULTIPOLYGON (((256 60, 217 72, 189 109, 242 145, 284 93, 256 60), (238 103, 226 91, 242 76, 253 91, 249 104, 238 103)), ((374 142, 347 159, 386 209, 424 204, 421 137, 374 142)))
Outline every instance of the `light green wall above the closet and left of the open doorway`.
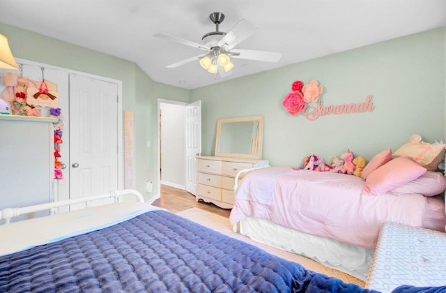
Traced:
POLYGON ((153 82, 137 64, 85 47, 0 23, 0 33, 8 37, 14 56, 85 73, 121 80, 123 111, 134 112, 135 188, 146 200, 157 190, 157 98, 188 101, 189 91, 153 82), (146 147, 146 141, 151 147, 146 147), (145 183, 153 180, 152 193, 145 183))

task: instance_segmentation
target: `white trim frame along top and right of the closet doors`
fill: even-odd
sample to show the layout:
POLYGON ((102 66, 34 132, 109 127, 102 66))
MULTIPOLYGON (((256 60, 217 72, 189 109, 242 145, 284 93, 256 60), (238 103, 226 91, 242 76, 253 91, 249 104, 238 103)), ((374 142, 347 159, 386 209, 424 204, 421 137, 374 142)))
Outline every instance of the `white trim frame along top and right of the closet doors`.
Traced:
MULTIPOLYGON (((91 73, 84 73, 82 71, 73 70, 70 68, 63 68, 59 66, 53 66, 51 64, 47 63, 41 63, 36 61, 31 61, 28 59, 21 59, 21 58, 15 58, 15 61, 18 64, 26 64, 29 66, 38 66, 38 67, 44 67, 44 68, 51 68, 54 70, 61 70, 63 72, 66 72, 68 74, 76 74, 76 75, 82 75, 84 77, 90 77, 95 80, 103 80, 105 82, 111 82, 118 85, 118 189, 123 189, 124 186, 124 170, 123 170, 123 158, 124 158, 124 145, 123 145, 123 82, 122 80, 115 80, 113 78, 104 77, 100 75, 94 75, 91 73)), ((68 80, 67 80, 68 82, 68 80)), ((64 116, 67 116, 68 114, 63 114, 64 116)), ((68 158, 70 160, 70 158, 68 158)), ((68 200, 66 198, 59 198, 59 190, 55 187, 56 179, 53 179, 53 190, 54 190, 54 200, 68 200)))

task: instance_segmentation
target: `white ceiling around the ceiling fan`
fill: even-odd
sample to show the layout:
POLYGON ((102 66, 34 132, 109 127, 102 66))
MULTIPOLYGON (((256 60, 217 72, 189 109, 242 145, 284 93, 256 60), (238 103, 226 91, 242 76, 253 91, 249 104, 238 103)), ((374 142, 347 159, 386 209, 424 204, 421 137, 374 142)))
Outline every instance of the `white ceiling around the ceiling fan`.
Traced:
POLYGON ((134 61, 156 82, 194 89, 445 27, 446 1, 0 0, 0 22, 134 61), (236 49, 282 52, 282 59, 235 59, 233 73, 216 78, 198 61, 165 68, 203 51, 153 35, 201 43, 205 33, 215 31, 209 19, 213 12, 225 15, 220 31, 229 31, 241 18, 259 27, 236 49))

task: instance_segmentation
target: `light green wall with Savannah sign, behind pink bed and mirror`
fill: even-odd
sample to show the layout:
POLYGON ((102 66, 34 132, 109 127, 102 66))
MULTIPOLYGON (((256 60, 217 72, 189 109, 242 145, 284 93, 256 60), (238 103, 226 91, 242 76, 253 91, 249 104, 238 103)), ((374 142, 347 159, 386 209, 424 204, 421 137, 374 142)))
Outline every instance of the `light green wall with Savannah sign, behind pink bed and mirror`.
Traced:
POLYGON ((301 165, 312 153, 329 161, 348 148, 369 159, 396 150, 414 133, 445 140, 445 28, 194 89, 195 100, 203 105, 203 155, 215 151, 217 119, 259 114, 263 158, 272 165, 301 165), (282 100, 295 80, 318 80, 324 105, 372 95, 375 110, 316 121, 292 117, 282 100))

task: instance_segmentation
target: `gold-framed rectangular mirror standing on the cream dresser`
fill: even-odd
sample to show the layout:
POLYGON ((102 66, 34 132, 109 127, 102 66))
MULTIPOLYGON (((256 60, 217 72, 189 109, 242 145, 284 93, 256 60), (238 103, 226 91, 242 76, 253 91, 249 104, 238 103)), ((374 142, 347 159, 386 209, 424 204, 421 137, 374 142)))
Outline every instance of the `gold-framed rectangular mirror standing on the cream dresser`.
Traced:
POLYGON ((261 160, 263 116, 217 120, 215 156, 261 160))

